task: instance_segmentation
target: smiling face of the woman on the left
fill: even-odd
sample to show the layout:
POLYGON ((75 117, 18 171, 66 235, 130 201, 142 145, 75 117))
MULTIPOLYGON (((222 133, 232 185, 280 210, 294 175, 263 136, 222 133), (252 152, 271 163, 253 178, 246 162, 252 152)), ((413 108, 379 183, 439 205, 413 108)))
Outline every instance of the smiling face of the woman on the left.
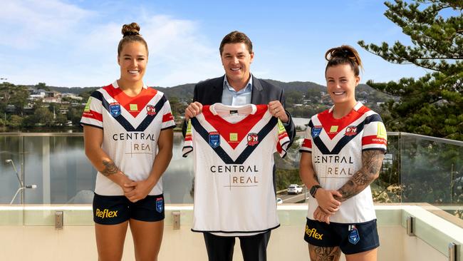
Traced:
POLYGON ((124 44, 118 56, 120 80, 124 83, 142 82, 148 61, 148 53, 144 44, 132 41, 124 44))

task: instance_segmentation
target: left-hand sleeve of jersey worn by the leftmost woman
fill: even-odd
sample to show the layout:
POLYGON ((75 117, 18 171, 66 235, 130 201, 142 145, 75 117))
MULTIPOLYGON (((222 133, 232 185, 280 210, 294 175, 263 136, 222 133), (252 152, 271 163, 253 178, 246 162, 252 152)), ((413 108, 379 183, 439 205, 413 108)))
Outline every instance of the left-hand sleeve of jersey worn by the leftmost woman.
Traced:
POLYGON ((94 91, 83 108, 80 125, 88 125, 103 129, 103 94, 94 91))

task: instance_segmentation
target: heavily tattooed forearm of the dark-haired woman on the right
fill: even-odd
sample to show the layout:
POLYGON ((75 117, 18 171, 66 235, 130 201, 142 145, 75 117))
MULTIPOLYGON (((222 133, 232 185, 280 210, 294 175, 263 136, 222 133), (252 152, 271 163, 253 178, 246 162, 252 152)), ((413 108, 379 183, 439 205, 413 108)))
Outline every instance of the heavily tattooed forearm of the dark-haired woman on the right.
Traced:
POLYGON ((370 185, 380 173, 383 158, 384 153, 381 150, 365 150, 362 153, 362 168, 339 189, 343 198, 335 197, 336 200, 348 200, 370 185))

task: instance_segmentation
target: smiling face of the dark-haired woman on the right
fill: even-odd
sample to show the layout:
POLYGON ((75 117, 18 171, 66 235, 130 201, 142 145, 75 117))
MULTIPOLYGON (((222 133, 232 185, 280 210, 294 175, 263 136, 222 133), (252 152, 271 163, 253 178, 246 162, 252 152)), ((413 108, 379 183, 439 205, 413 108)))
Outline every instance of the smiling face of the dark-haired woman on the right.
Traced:
POLYGON ((335 106, 354 106, 355 86, 360 76, 355 76, 349 64, 339 64, 326 69, 326 86, 335 106))

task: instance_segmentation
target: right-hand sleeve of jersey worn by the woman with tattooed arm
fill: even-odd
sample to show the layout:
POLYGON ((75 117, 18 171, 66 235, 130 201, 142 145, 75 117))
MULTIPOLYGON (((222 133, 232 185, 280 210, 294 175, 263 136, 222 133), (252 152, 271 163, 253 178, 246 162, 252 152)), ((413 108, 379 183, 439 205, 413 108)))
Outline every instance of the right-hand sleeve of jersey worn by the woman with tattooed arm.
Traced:
POLYGON ((366 123, 363 130, 362 137, 362 151, 363 150, 383 150, 387 148, 387 132, 386 128, 378 115, 375 117, 376 121, 366 123))

